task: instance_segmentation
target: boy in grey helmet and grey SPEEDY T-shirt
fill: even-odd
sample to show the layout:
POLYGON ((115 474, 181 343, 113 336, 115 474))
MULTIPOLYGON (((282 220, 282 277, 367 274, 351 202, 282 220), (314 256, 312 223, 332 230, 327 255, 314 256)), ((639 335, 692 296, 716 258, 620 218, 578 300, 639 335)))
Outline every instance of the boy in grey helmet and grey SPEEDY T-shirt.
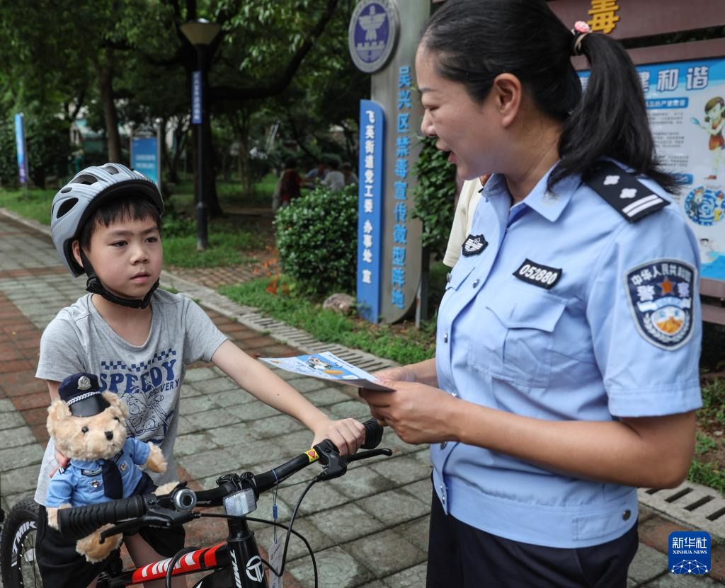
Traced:
MULTIPOLYGON (((331 421, 283 379, 247 356, 215 327, 194 301, 158 290, 162 266, 161 214, 156 186, 120 164, 83 169, 54 198, 51 235, 74 276, 86 273, 88 294, 64 308, 46 327, 36 377, 45 379, 51 400, 68 374, 98 374, 101 391, 114 392, 129 409, 128 432, 159 445, 168 467, 152 474, 156 484, 176 478, 173 445, 178 429, 179 390, 186 365, 212 361, 256 398, 302 421, 313 443, 328 437, 343 453, 364 440, 354 419, 331 421)), ((94 585, 106 562, 86 563, 46 524, 50 476, 67 458, 51 438, 38 476, 41 504, 36 555, 46 586, 94 585)), ((233 468, 234 464, 230 467, 233 468)), ((102 491, 102 490, 101 490, 102 491)), ((146 529, 125 541, 140 566, 183 547, 183 529, 146 529)), ((175 579, 186 586, 183 579, 175 579)), ((162 587, 163 581, 146 584, 162 587)))

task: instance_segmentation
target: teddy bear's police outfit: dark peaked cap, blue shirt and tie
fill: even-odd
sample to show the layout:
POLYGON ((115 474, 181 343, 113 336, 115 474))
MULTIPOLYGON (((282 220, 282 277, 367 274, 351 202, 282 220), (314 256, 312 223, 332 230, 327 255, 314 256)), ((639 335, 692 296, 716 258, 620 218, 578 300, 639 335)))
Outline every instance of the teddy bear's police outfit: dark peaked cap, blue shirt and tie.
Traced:
MULTIPOLYGON (((91 416, 107 406, 94 374, 67 377, 60 384, 58 393, 74 416, 91 416)), ((106 432, 107 436, 109 434, 112 432, 106 432)), ((147 443, 129 437, 110 459, 73 459, 51 479, 46 505, 55 508, 69 503, 84 506, 152 491, 151 478, 136 467, 148 461, 150 452, 147 443)))

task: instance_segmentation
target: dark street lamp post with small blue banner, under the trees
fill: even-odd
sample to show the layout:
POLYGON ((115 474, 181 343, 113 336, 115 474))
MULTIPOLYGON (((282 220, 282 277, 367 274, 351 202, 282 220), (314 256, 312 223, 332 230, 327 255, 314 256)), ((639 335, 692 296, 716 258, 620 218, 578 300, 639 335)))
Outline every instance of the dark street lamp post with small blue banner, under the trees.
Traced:
POLYGON ((196 49, 197 70, 194 72, 191 91, 191 122, 197 130, 199 164, 196 170, 196 249, 207 248, 207 204, 204 201, 204 80, 207 70, 208 47, 219 34, 221 27, 215 22, 200 18, 185 22, 181 32, 196 49))

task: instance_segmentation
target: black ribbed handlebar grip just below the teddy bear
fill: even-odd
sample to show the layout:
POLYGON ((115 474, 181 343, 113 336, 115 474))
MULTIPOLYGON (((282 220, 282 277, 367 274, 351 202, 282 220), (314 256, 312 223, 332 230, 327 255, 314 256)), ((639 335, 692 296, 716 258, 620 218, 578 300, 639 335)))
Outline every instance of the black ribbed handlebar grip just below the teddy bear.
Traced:
POLYGON ((143 496, 130 496, 75 508, 60 508, 58 531, 67 539, 81 539, 104 524, 115 524, 125 518, 136 518, 146 514, 148 510, 143 496))

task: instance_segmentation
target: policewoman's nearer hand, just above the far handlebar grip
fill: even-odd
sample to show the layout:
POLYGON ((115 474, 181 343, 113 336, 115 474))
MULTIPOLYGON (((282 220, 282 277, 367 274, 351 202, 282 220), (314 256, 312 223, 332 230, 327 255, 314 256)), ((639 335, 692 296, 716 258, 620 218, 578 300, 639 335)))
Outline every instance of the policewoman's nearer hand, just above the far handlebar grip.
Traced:
POLYGON ((456 440, 455 410, 461 400, 418 382, 386 380, 394 392, 360 390, 360 397, 370 405, 370 413, 392 427, 407 443, 438 443, 456 440))

